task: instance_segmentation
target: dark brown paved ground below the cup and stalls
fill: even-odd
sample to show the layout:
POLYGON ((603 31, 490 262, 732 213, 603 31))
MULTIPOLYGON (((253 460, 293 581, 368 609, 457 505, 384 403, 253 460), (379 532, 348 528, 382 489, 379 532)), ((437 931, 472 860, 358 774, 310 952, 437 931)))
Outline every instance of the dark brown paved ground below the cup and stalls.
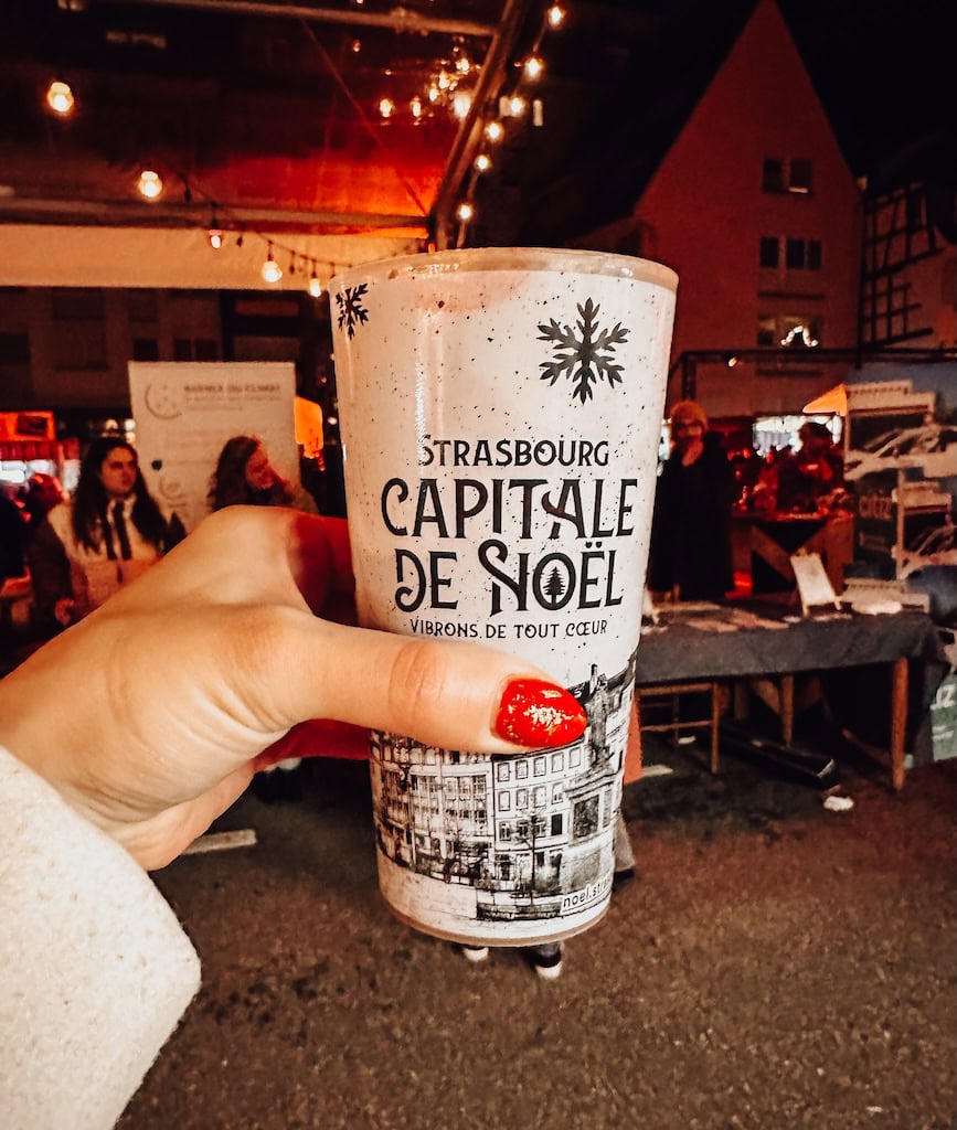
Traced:
POLYGON ((957 763, 855 807, 695 751, 629 788, 641 875, 538 981, 394 921, 364 765, 243 798, 252 849, 157 881, 205 988, 123 1130, 946 1130, 957 1094, 957 763))

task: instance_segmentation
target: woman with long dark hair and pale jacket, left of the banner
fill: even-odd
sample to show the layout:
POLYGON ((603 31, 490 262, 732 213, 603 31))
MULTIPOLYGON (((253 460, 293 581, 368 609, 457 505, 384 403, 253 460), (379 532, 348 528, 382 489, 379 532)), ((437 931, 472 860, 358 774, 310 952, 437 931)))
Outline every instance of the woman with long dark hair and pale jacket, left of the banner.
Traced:
POLYGON ((149 493, 132 444, 89 445, 71 502, 54 506, 27 549, 41 623, 67 627, 155 565, 185 537, 149 493))

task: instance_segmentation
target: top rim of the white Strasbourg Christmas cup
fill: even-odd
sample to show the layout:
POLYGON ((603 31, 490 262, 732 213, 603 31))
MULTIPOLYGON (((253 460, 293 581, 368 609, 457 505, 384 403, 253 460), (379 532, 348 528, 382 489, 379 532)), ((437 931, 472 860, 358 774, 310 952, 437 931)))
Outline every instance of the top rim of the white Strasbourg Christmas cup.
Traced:
POLYGON ((453 271, 482 270, 603 275, 610 278, 651 282, 672 292, 678 289, 678 275, 664 263, 617 252, 568 247, 466 247, 376 259, 339 271, 330 279, 329 289, 355 286, 363 281, 383 282, 400 278, 447 275, 453 271))

